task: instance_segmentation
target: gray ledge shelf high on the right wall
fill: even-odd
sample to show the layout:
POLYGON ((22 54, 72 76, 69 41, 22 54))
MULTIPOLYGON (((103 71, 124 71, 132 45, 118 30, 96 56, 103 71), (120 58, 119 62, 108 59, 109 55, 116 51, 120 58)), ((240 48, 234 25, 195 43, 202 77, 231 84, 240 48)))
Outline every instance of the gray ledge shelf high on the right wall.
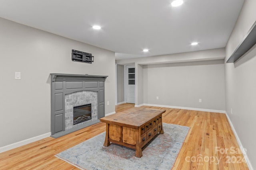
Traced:
POLYGON ((252 25, 240 45, 236 48, 234 53, 229 57, 227 63, 236 62, 242 55, 250 50, 256 44, 256 22, 252 25))

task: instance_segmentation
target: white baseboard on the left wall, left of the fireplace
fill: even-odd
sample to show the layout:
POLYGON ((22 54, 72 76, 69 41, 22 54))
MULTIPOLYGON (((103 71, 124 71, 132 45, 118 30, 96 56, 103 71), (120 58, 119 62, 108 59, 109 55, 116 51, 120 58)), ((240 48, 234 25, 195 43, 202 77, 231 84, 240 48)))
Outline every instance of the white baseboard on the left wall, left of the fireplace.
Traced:
POLYGON ((51 133, 48 132, 48 133, 45 133, 43 135, 39 135, 39 136, 36 136, 36 137, 32 137, 30 139, 25 139, 25 140, 20 141, 20 142, 16 142, 16 143, 12 143, 10 145, 6 145, 4 147, 0 147, 0 153, 5 152, 7 150, 11 150, 11 149, 17 148, 17 147, 21 147, 23 145, 26 145, 26 144, 29 144, 29 143, 32 143, 32 142, 44 139, 46 137, 50 137, 50 135, 51 135, 51 133))

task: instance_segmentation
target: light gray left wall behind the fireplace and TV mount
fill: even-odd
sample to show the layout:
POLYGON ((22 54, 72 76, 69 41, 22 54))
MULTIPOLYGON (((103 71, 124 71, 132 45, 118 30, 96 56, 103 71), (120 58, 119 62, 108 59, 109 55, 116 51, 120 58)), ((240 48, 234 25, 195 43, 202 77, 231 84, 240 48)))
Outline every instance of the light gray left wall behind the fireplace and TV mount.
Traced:
POLYGON ((50 73, 108 76, 105 113, 115 111, 114 52, 2 18, 0 25, 0 147, 50 132, 50 73), (72 49, 92 53, 94 63, 71 61, 72 49))

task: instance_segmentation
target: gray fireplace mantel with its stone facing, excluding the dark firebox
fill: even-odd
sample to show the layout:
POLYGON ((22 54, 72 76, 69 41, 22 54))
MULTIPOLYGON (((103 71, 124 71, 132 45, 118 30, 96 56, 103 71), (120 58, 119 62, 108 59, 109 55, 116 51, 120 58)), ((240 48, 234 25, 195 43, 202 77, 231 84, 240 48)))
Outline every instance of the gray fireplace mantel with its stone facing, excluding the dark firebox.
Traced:
POLYGON ((50 75, 51 137, 61 137, 100 122, 100 117, 105 116, 104 87, 108 76, 56 73, 50 75), (94 110, 92 119, 71 125, 73 106, 89 103, 93 105, 94 110))

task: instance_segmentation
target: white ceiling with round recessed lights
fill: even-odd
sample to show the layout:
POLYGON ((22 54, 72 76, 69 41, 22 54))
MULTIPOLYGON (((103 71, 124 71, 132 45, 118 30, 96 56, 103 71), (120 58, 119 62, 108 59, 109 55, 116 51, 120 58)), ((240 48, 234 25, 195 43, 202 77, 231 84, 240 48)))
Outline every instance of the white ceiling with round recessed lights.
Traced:
POLYGON ((225 47, 244 0, 183 1, 0 0, 0 17, 114 51, 116 59, 225 47))

